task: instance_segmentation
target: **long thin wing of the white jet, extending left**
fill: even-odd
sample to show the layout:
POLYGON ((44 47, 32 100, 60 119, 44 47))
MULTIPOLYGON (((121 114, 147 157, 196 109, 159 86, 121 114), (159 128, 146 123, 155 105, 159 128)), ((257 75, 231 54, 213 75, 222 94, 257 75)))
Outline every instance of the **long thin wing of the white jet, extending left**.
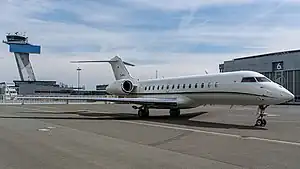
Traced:
POLYGON ((51 96, 33 96, 16 97, 21 100, 85 100, 85 101, 108 101, 116 103, 131 103, 140 105, 168 105, 176 106, 176 98, 105 98, 105 97, 51 97, 51 96))

